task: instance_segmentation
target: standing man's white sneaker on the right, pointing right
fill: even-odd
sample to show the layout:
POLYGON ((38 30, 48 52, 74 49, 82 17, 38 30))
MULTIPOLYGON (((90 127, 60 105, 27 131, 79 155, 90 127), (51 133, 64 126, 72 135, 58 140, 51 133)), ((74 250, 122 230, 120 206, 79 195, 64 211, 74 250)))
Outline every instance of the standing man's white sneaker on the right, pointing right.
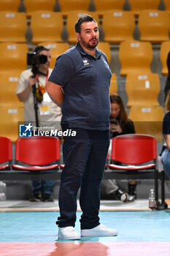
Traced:
POLYGON ((103 224, 89 230, 81 230, 81 236, 117 236, 117 230, 112 230, 103 224))

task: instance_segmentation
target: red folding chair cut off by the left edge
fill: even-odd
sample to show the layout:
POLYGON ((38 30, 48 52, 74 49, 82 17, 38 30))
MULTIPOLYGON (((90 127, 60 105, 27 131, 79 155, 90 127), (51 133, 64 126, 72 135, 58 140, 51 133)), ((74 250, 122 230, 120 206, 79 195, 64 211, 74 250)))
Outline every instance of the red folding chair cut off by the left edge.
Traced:
POLYGON ((0 170, 10 170, 12 165, 12 140, 0 137, 0 170))

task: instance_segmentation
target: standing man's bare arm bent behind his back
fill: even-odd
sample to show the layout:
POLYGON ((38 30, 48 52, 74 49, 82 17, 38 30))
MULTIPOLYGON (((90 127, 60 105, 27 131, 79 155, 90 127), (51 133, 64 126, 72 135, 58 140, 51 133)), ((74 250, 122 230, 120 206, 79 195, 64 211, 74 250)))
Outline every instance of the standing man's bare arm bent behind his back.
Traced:
POLYGON ((58 84, 52 83, 48 80, 46 83, 46 90, 53 102, 55 102, 55 104, 61 108, 63 103, 62 86, 59 86, 58 84))

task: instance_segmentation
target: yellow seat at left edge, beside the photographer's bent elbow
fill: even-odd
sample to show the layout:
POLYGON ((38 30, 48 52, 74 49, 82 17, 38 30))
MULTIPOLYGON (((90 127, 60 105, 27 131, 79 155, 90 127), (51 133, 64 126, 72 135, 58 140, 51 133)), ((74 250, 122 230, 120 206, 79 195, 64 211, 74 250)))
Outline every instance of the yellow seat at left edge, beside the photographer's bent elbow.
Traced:
POLYGON ((16 96, 16 90, 18 87, 18 80, 10 80, 9 82, 0 82, 0 105, 21 105, 23 102, 20 102, 16 96))

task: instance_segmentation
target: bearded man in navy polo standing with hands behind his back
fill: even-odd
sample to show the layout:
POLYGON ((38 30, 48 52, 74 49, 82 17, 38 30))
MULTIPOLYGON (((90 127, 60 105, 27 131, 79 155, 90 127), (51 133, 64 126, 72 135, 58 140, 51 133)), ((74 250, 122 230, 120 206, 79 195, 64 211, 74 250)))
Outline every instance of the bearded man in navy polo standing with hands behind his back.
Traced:
POLYGON ((80 239, 74 230, 77 192, 82 209, 81 236, 116 236, 100 224, 100 184, 109 148, 109 83, 112 73, 98 45, 98 25, 90 15, 75 24, 77 45, 56 60, 47 92, 61 107, 61 127, 76 131, 64 137, 58 238, 80 239))

